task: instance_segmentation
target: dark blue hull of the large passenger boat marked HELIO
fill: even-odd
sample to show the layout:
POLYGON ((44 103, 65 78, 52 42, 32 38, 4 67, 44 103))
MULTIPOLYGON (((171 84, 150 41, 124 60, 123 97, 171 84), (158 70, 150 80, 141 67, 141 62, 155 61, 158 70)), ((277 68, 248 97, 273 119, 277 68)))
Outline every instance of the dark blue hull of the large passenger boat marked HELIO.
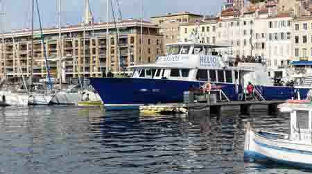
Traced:
MULTIPOLYGON (((144 78, 90 78, 92 87, 101 96, 107 110, 139 110, 140 105, 182 103, 190 87, 204 82, 144 78)), ((236 85, 216 84, 229 100, 237 100, 236 85)))

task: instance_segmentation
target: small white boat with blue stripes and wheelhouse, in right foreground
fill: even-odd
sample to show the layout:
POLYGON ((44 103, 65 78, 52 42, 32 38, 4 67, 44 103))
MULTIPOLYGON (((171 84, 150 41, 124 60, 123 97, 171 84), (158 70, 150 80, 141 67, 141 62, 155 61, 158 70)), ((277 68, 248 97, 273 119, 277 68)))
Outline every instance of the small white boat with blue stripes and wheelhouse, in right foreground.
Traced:
POLYGON ((288 134, 254 130, 248 123, 245 132, 245 158, 312 168, 311 102, 288 101, 279 105, 279 110, 291 114, 288 134))

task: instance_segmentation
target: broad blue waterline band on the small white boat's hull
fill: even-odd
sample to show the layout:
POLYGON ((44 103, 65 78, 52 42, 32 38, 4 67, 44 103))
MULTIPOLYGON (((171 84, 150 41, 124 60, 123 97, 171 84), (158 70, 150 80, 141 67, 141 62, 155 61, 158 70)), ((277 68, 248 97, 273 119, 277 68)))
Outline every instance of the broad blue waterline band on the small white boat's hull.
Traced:
POLYGON ((312 168, 312 164, 301 163, 301 162, 290 162, 284 159, 276 159, 272 157, 267 157, 266 155, 261 155, 260 153, 254 151, 244 151, 244 159, 248 160, 248 157, 260 162, 275 162, 277 164, 284 164, 286 166, 295 166, 300 168, 312 168))

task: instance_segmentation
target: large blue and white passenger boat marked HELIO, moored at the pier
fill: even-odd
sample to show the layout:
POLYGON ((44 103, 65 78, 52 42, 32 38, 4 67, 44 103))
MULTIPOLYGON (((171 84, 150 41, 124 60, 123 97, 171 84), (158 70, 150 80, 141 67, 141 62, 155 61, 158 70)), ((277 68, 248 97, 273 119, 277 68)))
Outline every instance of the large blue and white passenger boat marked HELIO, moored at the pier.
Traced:
MULTIPOLYGON (((207 80, 231 101, 238 101, 248 82, 264 100, 286 100, 295 95, 294 87, 275 87, 268 78, 266 64, 240 62, 236 67, 216 55, 226 46, 181 42, 167 45, 167 55, 155 64, 130 67, 130 78, 89 78, 107 110, 139 110, 140 105, 182 103, 190 87, 207 80), (214 54, 214 55, 212 55, 214 54)), ((300 89, 302 98, 309 89, 300 89)))

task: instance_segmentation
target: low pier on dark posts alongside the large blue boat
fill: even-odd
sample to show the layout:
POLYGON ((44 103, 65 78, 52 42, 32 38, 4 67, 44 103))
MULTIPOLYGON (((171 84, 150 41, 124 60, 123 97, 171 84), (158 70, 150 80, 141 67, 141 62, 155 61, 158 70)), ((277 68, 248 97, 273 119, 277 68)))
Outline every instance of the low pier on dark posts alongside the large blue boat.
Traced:
POLYGON ((224 112, 241 112, 241 114, 250 114, 252 111, 263 110, 268 114, 276 113, 277 105, 285 103, 285 101, 229 101, 218 103, 171 103, 162 105, 141 106, 141 112, 192 112, 204 111, 207 114, 216 114, 220 116, 224 112), (183 110, 184 109, 184 110, 183 110))

